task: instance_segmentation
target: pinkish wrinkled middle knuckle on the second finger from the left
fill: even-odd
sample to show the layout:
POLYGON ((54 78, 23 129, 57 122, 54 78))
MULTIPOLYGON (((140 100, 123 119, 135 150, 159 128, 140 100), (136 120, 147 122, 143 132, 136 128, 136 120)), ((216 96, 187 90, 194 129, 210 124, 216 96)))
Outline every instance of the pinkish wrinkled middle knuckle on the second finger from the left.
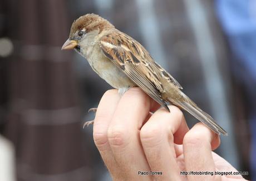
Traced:
POLYGON ((129 144, 129 132, 121 126, 110 127, 107 130, 107 139, 109 144, 114 148, 124 148, 129 144))

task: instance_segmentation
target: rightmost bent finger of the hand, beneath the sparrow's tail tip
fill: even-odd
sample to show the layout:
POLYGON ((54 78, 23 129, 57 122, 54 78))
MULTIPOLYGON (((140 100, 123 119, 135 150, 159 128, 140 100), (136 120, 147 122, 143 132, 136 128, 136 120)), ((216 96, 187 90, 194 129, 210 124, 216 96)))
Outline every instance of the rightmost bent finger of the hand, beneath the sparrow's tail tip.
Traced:
MULTIPOLYGON (((219 135, 197 123, 185 135, 183 151, 186 171, 214 172, 215 164, 211 149, 219 145, 219 135), (213 144, 213 146, 212 146, 213 144)), ((218 175, 188 175, 191 180, 218 180, 218 175)))

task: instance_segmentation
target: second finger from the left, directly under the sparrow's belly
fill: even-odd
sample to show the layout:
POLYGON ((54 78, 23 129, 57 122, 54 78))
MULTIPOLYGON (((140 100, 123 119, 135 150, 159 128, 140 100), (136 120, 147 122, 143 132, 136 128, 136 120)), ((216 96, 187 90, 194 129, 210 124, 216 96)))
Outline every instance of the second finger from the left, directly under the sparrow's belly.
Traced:
POLYGON ((140 125, 155 104, 140 88, 131 88, 120 99, 109 125, 112 153, 122 172, 138 179, 139 170, 149 171, 139 140, 140 125))

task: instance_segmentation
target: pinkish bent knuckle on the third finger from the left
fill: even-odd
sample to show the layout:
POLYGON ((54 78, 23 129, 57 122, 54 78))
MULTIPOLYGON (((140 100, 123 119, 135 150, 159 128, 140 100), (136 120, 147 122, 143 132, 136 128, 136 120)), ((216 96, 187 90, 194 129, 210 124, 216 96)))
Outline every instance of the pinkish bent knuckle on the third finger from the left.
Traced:
POLYGON ((140 139, 145 147, 154 147, 161 142, 163 129, 159 124, 145 124, 140 130, 140 139))

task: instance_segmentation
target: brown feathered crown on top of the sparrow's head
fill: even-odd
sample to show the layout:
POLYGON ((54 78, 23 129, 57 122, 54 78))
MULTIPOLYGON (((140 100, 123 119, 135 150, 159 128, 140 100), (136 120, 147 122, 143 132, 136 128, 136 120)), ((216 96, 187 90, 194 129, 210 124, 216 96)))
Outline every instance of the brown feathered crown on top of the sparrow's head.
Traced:
POLYGON ((114 28, 114 26, 109 21, 100 17, 97 14, 85 14, 84 16, 79 17, 73 22, 70 30, 70 37, 76 31, 83 28, 85 28, 86 32, 90 32, 95 29, 99 29, 99 31, 101 32, 102 29, 114 28))

